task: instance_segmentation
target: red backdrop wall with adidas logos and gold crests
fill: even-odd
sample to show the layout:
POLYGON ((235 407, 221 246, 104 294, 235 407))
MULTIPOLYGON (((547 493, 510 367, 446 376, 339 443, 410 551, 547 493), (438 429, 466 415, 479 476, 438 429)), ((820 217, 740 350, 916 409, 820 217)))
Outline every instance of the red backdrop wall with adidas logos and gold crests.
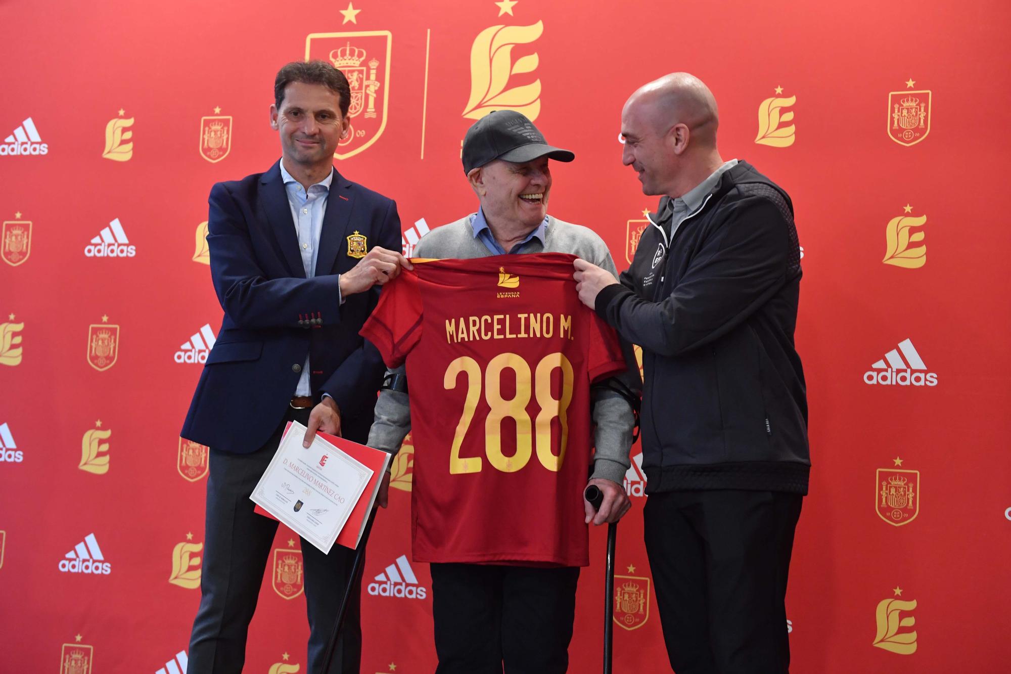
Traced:
MULTIPOLYGON (((592 227, 619 268, 656 204, 621 165, 622 104, 670 71, 706 81, 723 157, 789 190, 805 251, 814 469, 788 597, 794 671, 1006 671, 1007 3, 14 0, 2 16, 0 670, 181 669, 206 479, 178 430, 221 318, 199 228, 214 181, 279 156, 273 76, 312 56, 359 69, 336 165, 397 200, 405 245, 417 221, 476 208, 461 140, 513 107, 575 151, 553 169, 551 213, 592 227), (118 254, 94 255, 106 242, 118 254)), ((393 565, 416 597, 364 594, 368 674, 435 664, 428 568, 410 564, 409 583, 397 566, 403 456, 365 579, 393 565)), ((632 478, 616 671, 665 671, 632 478)), ((600 667, 604 535, 573 672, 600 667)), ((305 672, 290 537, 268 564, 250 672, 305 672)))

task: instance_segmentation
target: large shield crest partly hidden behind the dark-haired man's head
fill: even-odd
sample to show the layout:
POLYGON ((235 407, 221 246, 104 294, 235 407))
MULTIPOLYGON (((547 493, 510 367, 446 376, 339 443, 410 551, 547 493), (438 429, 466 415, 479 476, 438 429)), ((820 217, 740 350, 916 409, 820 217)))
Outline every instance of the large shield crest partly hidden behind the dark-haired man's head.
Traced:
POLYGON ((354 157, 375 143, 386 129, 392 45, 389 30, 313 32, 305 38, 305 60, 329 61, 351 85, 351 123, 334 153, 337 159, 354 157))

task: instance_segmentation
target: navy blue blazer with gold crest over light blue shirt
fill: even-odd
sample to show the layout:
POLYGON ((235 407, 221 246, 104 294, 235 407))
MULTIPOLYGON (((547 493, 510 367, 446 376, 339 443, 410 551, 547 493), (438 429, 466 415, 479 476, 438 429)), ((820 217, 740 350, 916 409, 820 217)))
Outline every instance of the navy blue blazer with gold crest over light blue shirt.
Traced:
POLYGON ((338 274, 358 262, 348 255, 355 232, 369 249, 398 250, 396 204, 335 173, 315 276, 305 278, 279 162, 216 183, 209 202, 210 275, 224 320, 181 435, 224 451, 255 451, 284 417, 308 354, 313 399, 333 396, 343 435, 364 442, 384 369, 358 331, 379 289, 341 305, 338 274))

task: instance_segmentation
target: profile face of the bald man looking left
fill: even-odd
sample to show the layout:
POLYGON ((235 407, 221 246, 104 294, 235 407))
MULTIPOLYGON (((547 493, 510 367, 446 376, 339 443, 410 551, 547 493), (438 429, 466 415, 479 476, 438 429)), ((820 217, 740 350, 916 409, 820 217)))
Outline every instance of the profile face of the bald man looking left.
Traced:
POLYGON ((622 163, 639 174, 643 194, 668 194, 677 180, 677 139, 648 104, 629 99, 622 110, 622 163))

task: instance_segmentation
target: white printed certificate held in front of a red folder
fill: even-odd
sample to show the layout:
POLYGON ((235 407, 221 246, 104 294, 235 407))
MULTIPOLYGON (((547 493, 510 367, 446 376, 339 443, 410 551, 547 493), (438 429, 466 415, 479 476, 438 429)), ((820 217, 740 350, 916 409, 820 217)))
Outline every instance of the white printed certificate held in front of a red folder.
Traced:
POLYGON ((305 426, 293 421, 250 498, 330 553, 371 480, 372 469, 318 435, 306 449, 304 435, 305 426))

